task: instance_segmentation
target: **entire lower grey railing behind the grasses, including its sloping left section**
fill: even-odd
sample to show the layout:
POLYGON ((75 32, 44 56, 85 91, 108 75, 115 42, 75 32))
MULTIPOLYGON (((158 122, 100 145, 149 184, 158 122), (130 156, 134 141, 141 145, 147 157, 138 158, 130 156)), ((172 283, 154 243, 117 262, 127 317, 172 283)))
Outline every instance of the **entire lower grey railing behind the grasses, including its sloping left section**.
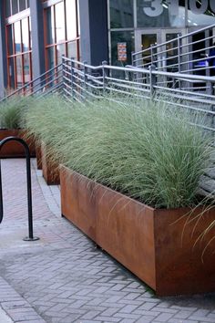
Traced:
MULTIPOLYGON (((24 88, 18 89, 12 95, 22 94, 23 90, 24 88)), ((148 68, 119 68, 103 62, 94 67, 62 57, 62 64, 30 82, 29 86, 26 85, 26 90, 26 95, 38 96, 57 90, 67 100, 75 100, 83 105, 104 95, 112 101, 123 99, 125 102, 125 98, 129 97, 166 102, 172 109, 173 118, 174 109, 185 109, 200 116, 197 125, 209 131, 214 138, 215 78, 210 76, 171 73, 158 70, 153 65, 148 68)), ((205 192, 214 191, 215 172, 210 170, 206 173, 202 187, 205 192)))

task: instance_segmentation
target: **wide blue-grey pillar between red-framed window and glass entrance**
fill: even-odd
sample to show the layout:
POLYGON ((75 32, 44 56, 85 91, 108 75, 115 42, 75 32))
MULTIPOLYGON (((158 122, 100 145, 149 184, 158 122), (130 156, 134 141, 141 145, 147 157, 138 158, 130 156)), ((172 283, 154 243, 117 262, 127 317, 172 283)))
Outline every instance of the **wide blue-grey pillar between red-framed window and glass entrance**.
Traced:
POLYGON ((107 1, 79 0, 81 60, 100 65, 108 60, 107 1))

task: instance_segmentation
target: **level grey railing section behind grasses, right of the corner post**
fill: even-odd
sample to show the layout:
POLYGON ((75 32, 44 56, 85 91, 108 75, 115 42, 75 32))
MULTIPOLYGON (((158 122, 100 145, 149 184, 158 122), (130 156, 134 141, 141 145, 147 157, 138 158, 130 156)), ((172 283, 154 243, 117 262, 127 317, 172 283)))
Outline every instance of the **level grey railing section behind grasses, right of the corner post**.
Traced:
POLYGON ((108 93, 109 98, 115 100, 124 96, 162 100, 172 109, 199 113, 205 119, 200 127, 215 130, 215 78, 163 72, 153 66, 119 68, 104 62, 93 67, 67 57, 63 57, 62 65, 63 93, 67 99, 84 103, 108 93), (190 87, 194 83, 204 84, 204 87, 190 87))

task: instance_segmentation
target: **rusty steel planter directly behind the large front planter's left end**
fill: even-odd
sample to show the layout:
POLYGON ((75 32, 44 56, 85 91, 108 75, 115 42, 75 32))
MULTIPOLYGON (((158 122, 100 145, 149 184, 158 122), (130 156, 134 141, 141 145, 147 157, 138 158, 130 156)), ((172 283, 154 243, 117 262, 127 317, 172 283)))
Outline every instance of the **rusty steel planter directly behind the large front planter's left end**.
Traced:
POLYGON ((46 145, 41 144, 42 156, 42 172, 47 185, 59 185, 59 165, 56 162, 51 162, 46 154, 46 145))

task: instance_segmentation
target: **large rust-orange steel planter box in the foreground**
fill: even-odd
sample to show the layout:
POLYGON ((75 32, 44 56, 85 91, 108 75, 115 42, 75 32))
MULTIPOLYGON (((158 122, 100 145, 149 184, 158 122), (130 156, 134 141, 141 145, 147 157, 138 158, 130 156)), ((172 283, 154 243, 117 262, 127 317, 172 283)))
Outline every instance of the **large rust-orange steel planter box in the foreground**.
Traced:
POLYGON ((158 296, 215 291, 214 240, 201 260, 215 228, 195 245, 214 220, 214 208, 200 220, 194 218, 200 209, 193 212, 186 224, 188 208, 154 209, 64 166, 60 184, 62 214, 158 296))

